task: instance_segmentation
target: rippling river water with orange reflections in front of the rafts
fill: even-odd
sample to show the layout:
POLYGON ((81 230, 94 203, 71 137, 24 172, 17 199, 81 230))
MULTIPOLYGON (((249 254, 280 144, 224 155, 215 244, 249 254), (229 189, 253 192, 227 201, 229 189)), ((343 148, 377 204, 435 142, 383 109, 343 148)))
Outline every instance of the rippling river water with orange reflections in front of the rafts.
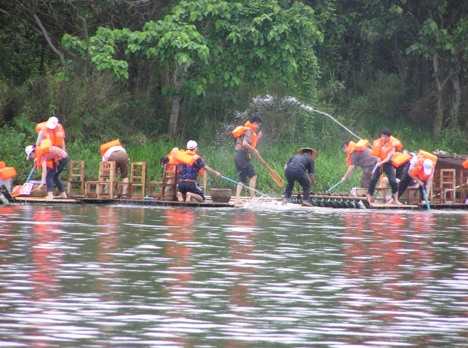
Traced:
POLYGON ((466 211, 0 206, 0 347, 468 347, 466 211))

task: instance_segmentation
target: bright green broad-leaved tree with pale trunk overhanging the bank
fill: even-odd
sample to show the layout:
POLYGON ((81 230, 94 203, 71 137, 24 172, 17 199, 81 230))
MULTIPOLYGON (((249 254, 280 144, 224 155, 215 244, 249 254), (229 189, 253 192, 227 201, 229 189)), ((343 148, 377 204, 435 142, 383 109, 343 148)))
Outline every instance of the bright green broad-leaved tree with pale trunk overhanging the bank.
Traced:
POLYGON ((134 60, 156 60, 172 76, 162 92, 171 98, 174 136, 183 96, 204 95, 209 85, 279 81, 313 94, 318 74, 313 46, 322 40, 314 11, 302 2, 183 0, 141 31, 100 27, 89 40, 64 35, 62 43, 115 78, 128 78, 134 60))

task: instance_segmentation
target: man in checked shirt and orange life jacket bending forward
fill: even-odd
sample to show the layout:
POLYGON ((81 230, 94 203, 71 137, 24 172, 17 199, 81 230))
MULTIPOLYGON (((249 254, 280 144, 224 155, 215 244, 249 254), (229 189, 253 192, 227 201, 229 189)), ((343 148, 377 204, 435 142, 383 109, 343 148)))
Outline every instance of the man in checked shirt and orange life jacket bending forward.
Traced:
POLYGON ((350 147, 350 140, 345 141, 341 145, 343 151, 348 153, 349 160, 347 158, 348 170, 345 173, 345 176, 341 178, 341 182, 344 183, 350 177, 352 171, 357 166, 362 168, 362 174, 360 179, 360 187, 367 189, 369 187, 370 177, 372 175, 372 169, 377 163, 377 157, 370 154, 370 148, 365 147, 362 150, 355 150, 350 147), (352 152, 351 152, 352 151, 352 152), (348 163, 349 162, 349 163, 348 163))

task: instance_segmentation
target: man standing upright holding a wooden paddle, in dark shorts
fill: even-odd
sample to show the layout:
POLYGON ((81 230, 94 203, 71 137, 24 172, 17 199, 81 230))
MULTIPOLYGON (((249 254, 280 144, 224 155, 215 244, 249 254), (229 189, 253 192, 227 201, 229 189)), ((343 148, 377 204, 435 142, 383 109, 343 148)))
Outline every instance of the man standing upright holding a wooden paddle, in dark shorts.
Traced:
MULTIPOLYGON (((257 181, 257 172, 250 161, 250 152, 255 156, 258 156, 258 150, 255 148, 257 141, 262 137, 262 132, 255 133, 260 128, 262 119, 259 116, 253 116, 243 126, 242 135, 236 138, 235 153, 234 153, 234 164, 239 174, 239 183, 242 185, 247 184, 247 177, 249 177, 249 184, 253 190, 249 190, 250 199, 255 197, 255 183, 257 181)), ((239 126, 237 128, 242 128, 239 126)), ((236 128, 236 129, 237 129, 236 128)), ((235 131, 235 130, 234 130, 235 131)), ((234 204, 242 204, 240 200, 240 193, 242 192, 241 185, 237 185, 235 188, 235 200, 234 204)))

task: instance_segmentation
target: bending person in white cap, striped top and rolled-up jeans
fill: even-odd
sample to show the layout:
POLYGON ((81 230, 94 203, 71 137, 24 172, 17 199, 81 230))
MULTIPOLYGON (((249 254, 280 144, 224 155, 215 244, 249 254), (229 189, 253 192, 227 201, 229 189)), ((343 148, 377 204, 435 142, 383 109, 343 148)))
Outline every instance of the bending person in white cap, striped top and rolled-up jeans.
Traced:
POLYGON ((46 184, 46 199, 52 200, 53 198, 67 198, 63 183, 60 181, 58 176, 68 163, 68 154, 60 147, 52 146, 50 152, 44 153, 40 158, 36 158, 35 147, 35 145, 28 145, 26 146, 25 151, 27 155, 26 159, 34 158, 35 165, 37 165, 38 169, 39 167, 42 168, 42 177, 39 190, 41 190, 44 184, 46 184), (59 193, 59 195, 55 197, 53 195, 53 182, 56 184, 59 193))

